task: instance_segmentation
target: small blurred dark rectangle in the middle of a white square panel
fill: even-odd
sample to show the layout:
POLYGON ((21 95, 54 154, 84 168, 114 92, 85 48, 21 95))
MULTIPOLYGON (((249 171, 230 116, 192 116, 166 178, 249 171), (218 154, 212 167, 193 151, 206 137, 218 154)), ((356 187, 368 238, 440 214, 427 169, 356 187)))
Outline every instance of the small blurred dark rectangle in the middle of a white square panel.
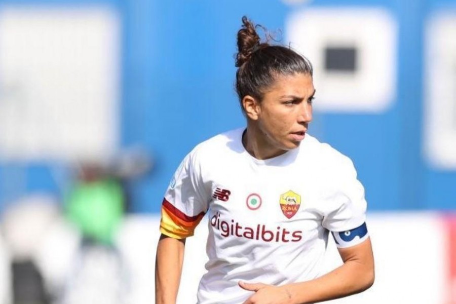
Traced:
POLYGON ((355 47, 327 47, 325 70, 355 72, 357 49, 355 47))

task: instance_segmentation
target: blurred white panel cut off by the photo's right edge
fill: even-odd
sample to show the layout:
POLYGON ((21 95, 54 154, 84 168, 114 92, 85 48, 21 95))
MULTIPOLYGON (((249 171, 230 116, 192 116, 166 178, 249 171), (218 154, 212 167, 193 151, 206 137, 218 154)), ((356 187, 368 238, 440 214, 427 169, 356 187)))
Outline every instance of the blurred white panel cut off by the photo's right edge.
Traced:
POLYGON ((456 169, 456 12, 426 25, 424 144, 429 163, 456 169))

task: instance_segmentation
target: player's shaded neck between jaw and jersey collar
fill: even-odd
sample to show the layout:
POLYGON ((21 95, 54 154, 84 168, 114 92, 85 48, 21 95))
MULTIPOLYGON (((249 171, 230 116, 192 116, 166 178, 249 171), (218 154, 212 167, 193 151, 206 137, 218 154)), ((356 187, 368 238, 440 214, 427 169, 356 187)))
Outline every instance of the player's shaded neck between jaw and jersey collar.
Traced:
POLYGON ((242 144, 247 152, 258 160, 267 160, 282 155, 286 150, 275 147, 254 123, 247 123, 247 130, 242 136, 242 144))

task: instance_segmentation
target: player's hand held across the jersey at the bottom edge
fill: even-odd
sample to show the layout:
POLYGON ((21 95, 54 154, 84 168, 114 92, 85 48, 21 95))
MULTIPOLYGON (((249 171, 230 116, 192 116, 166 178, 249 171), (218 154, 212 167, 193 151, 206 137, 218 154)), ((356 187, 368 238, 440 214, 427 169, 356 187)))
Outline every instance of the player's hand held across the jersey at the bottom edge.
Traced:
POLYGON ((292 304, 291 293, 284 286, 239 282, 245 290, 254 291, 242 304, 292 304))

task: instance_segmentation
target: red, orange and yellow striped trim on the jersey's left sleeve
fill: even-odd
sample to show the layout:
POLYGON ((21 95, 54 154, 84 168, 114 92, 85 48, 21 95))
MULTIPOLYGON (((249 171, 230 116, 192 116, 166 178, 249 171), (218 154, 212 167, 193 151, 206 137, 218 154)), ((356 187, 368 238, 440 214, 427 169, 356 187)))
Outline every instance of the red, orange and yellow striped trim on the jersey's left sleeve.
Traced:
POLYGON ((163 199, 160 232, 175 239, 191 237, 204 214, 204 212, 200 212, 195 216, 188 216, 166 199, 163 199))

